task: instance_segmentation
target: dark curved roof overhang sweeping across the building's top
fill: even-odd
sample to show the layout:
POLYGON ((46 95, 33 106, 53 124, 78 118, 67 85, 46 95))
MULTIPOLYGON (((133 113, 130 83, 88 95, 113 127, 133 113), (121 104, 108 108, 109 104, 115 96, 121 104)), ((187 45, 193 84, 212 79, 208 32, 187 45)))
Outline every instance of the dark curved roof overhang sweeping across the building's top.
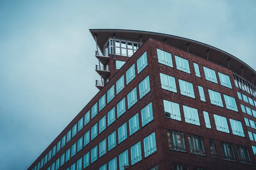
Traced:
POLYGON ((165 42, 181 50, 187 51, 189 44, 189 53, 194 54, 198 57, 207 59, 207 53, 209 52, 209 60, 215 62, 221 66, 229 68, 241 75, 243 68, 243 77, 250 82, 253 82, 253 75, 256 71, 253 70, 249 65, 236 58, 235 56, 222 51, 221 49, 215 48, 211 45, 204 44, 195 40, 190 40, 183 37, 178 37, 169 34, 162 34, 149 31, 137 31, 137 30, 124 30, 124 29, 89 29, 93 38, 95 40, 95 34, 97 35, 97 44, 101 51, 103 51, 103 45, 108 40, 108 38, 113 37, 115 34, 116 39, 125 39, 131 41, 140 42, 140 37, 142 42, 148 40, 152 37, 156 40, 165 42), (208 51, 208 52, 207 52, 208 51), (229 62, 228 62, 229 60, 229 62))

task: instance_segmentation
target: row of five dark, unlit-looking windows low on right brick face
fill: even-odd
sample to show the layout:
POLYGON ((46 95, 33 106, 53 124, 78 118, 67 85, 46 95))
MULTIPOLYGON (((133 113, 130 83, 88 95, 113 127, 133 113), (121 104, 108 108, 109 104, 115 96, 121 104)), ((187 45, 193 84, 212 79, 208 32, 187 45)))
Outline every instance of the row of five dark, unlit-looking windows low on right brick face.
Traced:
MULTIPOLYGON (((184 133, 168 130, 167 136, 168 136, 170 150, 186 152, 184 133)), ((204 150, 204 139, 202 137, 188 135, 188 142, 189 142, 190 153, 196 154, 196 155, 203 155, 203 156, 206 155, 204 150)), ((213 158, 218 158, 215 150, 214 140, 209 139, 209 144, 211 149, 211 156, 213 158)), ((233 144, 220 142, 220 145, 221 145, 222 158, 228 161, 236 161, 233 144)), ((236 145, 236 149, 239 156, 239 162, 244 164, 252 164, 249 150, 247 147, 236 145)))

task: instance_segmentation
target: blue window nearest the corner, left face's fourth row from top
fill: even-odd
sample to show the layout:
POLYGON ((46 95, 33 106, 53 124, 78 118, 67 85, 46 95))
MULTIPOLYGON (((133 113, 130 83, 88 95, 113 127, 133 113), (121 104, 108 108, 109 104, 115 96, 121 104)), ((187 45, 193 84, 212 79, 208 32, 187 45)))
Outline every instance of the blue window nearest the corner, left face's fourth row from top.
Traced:
POLYGON ((157 151, 155 133, 151 133, 143 139, 144 157, 148 157, 157 151))

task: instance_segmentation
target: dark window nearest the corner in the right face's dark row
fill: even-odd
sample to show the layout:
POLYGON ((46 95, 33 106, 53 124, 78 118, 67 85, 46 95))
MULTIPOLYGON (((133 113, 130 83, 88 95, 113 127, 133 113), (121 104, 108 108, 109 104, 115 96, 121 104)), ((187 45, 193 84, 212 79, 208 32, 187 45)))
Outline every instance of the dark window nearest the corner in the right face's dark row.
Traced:
POLYGON ((186 152, 184 133, 167 131, 169 149, 186 152))

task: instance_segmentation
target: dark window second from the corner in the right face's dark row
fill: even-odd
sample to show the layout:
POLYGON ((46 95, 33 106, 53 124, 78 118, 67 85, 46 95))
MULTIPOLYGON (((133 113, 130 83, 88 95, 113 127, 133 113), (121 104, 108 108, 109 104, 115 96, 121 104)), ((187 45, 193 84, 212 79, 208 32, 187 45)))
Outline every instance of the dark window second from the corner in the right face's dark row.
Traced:
POLYGON ((194 153, 197 155, 205 155, 203 138, 189 135, 188 139, 190 153, 194 153))

